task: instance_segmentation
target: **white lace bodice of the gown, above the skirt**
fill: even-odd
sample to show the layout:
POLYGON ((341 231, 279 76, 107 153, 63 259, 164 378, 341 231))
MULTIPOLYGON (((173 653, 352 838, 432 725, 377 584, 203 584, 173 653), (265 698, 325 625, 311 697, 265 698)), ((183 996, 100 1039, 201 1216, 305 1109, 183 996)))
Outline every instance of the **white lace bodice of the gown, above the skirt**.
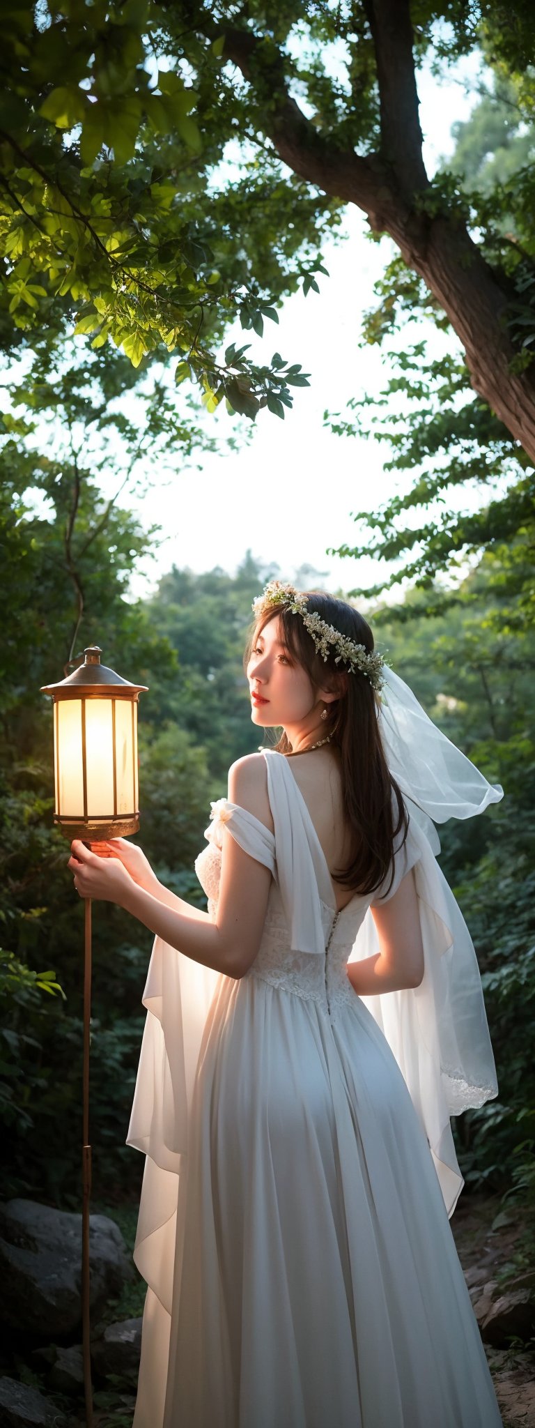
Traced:
MULTIPOLYGON (((224 800, 220 800, 220 804, 224 804, 224 800)), ((220 891, 224 823, 217 804, 213 807, 215 808, 211 828, 214 841, 195 858, 195 873, 208 898, 208 912, 214 917, 220 891)), ((291 950, 290 925, 280 888, 272 881, 261 944, 244 980, 257 977, 278 991, 314 1001, 334 1018, 341 1007, 357 1000, 347 975, 347 964, 368 902, 370 898, 357 895, 335 912, 330 904, 320 900, 325 954, 318 957, 315 952, 297 952, 291 950)))

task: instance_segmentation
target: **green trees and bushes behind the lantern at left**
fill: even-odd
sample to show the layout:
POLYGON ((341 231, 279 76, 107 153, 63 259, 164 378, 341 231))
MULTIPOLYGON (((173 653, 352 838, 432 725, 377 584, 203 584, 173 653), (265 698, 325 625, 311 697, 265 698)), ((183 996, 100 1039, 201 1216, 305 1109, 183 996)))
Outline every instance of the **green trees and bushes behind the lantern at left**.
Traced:
MULTIPOLYGON (((77 1208, 83 907, 66 865, 68 845, 51 825, 51 717, 40 687, 61 678, 88 643, 101 644, 120 673, 148 684, 140 721, 141 840, 167 885, 204 907, 193 863, 203 847, 210 798, 227 791, 228 764, 258 737, 244 700, 241 654, 261 577, 248 557, 234 583, 213 573, 198 577, 197 587, 195 577, 175 571, 151 601, 126 598, 153 533, 140 530, 118 493, 126 481, 136 483, 141 458, 144 478, 157 463, 161 470, 165 460, 175 460, 177 438, 187 464, 194 428, 184 426, 178 437, 161 387, 138 396, 144 421, 134 421, 121 398, 131 368, 120 356, 108 363, 96 354, 57 371, 54 383, 39 363, 37 357, 30 378, 16 374, 9 388, 11 414, 0 450, 7 571, 0 605, 3 1190, 77 1208), (50 436, 41 447, 43 433, 50 436), (104 483, 111 496, 103 496, 104 483), (221 595, 228 630, 221 627, 221 595), (50 965, 56 974, 46 971, 50 965)), ((97 1197, 117 1202, 136 1202, 143 1171, 141 1157, 133 1157, 124 1141, 151 940, 143 930, 134 942, 131 937, 126 914, 96 905, 93 1180, 97 1197)))

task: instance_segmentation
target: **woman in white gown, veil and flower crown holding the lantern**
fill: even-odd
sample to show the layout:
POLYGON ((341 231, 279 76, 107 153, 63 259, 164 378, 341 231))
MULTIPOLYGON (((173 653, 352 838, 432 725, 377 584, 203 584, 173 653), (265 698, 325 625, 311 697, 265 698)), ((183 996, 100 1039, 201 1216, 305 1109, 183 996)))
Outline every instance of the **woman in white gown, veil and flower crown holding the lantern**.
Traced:
POLYGON ((372 650, 331 595, 255 601, 251 718, 282 734, 211 805, 207 912, 127 841, 73 844, 80 895, 156 932, 134 1428, 501 1424, 448 1222, 449 1115, 495 1070, 434 821, 502 791, 372 650))

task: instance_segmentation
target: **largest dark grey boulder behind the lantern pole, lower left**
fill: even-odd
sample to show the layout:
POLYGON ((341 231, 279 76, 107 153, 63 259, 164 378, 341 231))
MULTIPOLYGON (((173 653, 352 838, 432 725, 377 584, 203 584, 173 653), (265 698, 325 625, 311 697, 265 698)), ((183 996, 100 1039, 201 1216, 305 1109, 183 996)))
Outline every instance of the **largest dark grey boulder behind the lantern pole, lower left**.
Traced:
MULTIPOLYGON (((81 1322, 81 1215, 31 1200, 0 1205, 0 1322, 24 1334, 63 1338, 81 1322)), ((90 1302, 103 1312, 134 1267, 118 1225, 90 1217, 90 1302)))

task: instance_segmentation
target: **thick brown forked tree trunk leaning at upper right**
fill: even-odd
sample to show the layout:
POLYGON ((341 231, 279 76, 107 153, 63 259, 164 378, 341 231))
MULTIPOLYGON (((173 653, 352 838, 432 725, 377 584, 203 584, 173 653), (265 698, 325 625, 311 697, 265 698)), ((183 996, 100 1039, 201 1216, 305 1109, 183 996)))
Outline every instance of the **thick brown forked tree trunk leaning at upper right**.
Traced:
POLYGON ((504 324, 511 301, 505 273, 489 267, 452 211, 435 218, 417 198, 429 190, 421 153, 409 0, 367 0, 379 89, 381 150, 362 156, 321 133, 291 99, 281 51, 267 59, 251 30, 224 30, 224 53, 260 96, 271 96, 265 133, 292 173, 322 193, 354 203, 377 233, 388 233, 418 273, 465 348, 474 390, 535 461, 535 371, 511 371, 518 357, 504 324))

